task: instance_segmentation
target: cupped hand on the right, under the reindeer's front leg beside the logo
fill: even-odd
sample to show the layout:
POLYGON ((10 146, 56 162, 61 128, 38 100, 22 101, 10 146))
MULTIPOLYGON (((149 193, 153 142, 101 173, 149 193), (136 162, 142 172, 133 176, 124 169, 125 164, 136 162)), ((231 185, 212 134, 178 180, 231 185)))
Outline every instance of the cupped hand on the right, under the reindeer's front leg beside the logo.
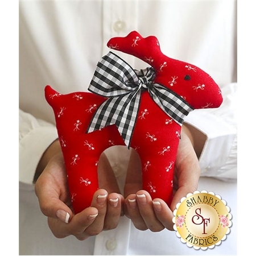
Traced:
POLYGON ((139 159, 131 152, 131 161, 125 185, 125 214, 139 230, 150 229, 158 232, 164 228, 173 229, 173 211, 180 199, 196 191, 200 167, 194 149, 194 141, 189 129, 183 125, 177 150, 174 176, 174 198, 171 205, 162 199, 151 199, 147 191, 141 190, 141 175, 138 171, 139 159))

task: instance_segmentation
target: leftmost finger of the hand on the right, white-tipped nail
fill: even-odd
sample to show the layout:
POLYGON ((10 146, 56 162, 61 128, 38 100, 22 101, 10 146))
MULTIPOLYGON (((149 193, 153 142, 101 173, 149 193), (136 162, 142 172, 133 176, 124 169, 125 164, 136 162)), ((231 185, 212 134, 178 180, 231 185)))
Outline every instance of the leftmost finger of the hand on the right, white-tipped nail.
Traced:
POLYGON ((141 213, 139 212, 136 195, 132 194, 125 199, 125 214, 131 219, 135 228, 139 230, 147 230, 147 225, 144 222, 141 213))

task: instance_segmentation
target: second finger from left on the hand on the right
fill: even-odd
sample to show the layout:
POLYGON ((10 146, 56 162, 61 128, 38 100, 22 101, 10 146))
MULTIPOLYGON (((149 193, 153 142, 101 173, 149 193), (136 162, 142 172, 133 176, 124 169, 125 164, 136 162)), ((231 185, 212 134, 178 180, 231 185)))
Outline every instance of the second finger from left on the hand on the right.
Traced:
POLYGON ((152 232, 159 232, 164 229, 163 224, 156 218, 155 211, 152 207, 152 199, 147 191, 141 190, 136 194, 139 212, 152 232))

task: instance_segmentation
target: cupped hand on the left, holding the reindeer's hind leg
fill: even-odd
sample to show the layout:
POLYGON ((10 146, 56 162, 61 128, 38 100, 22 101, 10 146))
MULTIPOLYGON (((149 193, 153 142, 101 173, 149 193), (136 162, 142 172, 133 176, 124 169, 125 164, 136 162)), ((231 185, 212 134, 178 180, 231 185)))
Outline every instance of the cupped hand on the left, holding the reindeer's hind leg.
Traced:
POLYGON ((124 199, 119 193, 113 192, 118 191, 118 186, 112 179, 113 172, 104 154, 98 166, 101 189, 94 193, 91 207, 78 214, 72 211, 61 152, 50 158, 38 177, 35 183, 36 196, 43 214, 48 217, 49 228, 56 237, 73 235, 85 240, 118 225, 124 199))

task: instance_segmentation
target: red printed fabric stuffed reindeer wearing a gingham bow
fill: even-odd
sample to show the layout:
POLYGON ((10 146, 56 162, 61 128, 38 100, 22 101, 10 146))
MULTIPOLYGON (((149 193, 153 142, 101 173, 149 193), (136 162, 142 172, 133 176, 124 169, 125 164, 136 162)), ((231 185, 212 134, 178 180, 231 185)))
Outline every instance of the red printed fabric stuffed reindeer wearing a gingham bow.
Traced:
POLYGON ((181 125, 193 109, 218 108, 221 90, 195 65, 171 59, 155 36, 138 32, 108 42, 150 67, 134 70, 109 52, 97 64, 90 92, 60 94, 47 85, 56 119, 75 213, 89 207, 98 189, 97 164, 114 145, 134 148, 141 158, 143 189, 170 205, 181 125))

